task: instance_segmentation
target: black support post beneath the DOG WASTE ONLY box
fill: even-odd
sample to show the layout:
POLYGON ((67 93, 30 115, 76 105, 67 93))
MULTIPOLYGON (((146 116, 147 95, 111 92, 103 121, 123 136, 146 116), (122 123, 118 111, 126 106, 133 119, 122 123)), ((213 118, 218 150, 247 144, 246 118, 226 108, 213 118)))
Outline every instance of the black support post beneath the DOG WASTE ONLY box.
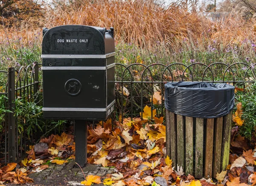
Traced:
POLYGON ((87 122, 75 121, 76 163, 84 167, 87 163, 87 122))

